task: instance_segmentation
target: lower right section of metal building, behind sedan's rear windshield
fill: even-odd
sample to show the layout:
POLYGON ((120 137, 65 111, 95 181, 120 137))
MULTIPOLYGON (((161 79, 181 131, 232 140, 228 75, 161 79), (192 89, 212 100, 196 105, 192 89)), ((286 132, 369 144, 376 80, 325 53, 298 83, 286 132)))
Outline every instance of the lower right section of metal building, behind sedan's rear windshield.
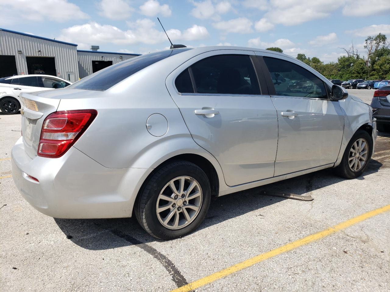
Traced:
POLYGON ((135 56, 139 56, 139 54, 77 50, 79 76, 84 78, 98 70, 135 56))

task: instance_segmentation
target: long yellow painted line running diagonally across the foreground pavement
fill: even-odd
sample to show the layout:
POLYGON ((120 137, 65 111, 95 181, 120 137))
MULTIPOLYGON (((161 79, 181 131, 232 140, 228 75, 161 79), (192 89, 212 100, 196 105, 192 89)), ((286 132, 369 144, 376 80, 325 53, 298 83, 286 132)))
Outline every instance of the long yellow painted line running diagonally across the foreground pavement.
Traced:
POLYGON ((333 227, 329 227, 328 229, 325 229, 325 230, 320 231, 318 233, 311 234, 309 236, 303 237, 302 239, 298 239, 298 240, 293 241, 291 243, 287 243, 287 245, 280 246, 278 248, 275 248, 274 250, 270 250, 269 252, 262 253, 260 255, 255 256, 255 257, 252 257, 251 259, 248 259, 248 260, 245 260, 245 261, 240 262, 238 264, 235 264, 234 266, 228 267, 228 268, 223 269, 219 272, 216 272, 214 274, 206 276, 202 279, 196 280, 192 283, 189 283, 187 285, 184 285, 182 287, 174 289, 171 292, 189 292, 191 290, 195 290, 199 287, 202 287, 204 285, 212 283, 212 282, 219 280, 223 277, 229 276, 230 274, 241 271, 242 269, 253 266, 254 264, 262 262, 263 260, 269 259, 271 257, 275 257, 276 255, 280 255, 281 253, 289 252, 290 250, 293 250, 293 249, 298 248, 300 246, 307 245, 308 243, 312 243, 313 241, 316 241, 318 239, 329 236, 337 231, 340 231, 342 229, 346 229, 347 227, 355 225, 356 223, 362 222, 363 220, 366 220, 366 219, 371 218, 373 216, 379 215, 379 214, 384 213, 386 211, 390 211, 390 205, 369 211, 369 212, 364 213, 362 215, 359 215, 355 218, 352 218, 352 219, 349 219, 349 220, 344 221, 342 223, 339 223, 333 227))

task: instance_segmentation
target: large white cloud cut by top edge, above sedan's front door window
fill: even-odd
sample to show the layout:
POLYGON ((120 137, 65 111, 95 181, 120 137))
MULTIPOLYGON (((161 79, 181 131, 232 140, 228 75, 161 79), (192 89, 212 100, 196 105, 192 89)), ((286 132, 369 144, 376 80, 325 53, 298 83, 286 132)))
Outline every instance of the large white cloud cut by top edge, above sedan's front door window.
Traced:
MULTIPOLYGON (((273 23, 286 26, 330 16, 344 1, 340 0, 270 0, 265 17, 273 23)), ((358 7, 355 7, 357 9, 358 7)))

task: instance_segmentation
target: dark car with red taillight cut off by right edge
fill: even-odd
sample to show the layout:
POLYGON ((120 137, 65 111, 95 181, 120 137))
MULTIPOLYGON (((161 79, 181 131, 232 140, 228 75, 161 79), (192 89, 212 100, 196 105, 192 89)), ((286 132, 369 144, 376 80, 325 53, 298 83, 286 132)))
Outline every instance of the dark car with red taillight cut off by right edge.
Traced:
POLYGON ((374 91, 371 107, 378 131, 390 132, 390 85, 374 91))

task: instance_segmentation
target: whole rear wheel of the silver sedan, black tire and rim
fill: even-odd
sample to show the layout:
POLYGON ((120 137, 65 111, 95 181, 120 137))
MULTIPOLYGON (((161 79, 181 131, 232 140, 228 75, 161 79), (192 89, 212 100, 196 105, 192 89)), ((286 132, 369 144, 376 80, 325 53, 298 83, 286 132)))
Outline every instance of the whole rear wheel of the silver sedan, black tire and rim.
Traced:
POLYGON ((197 229, 210 206, 211 187, 204 171, 188 161, 162 166, 140 191, 135 215, 151 236, 174 239, 197 229))

